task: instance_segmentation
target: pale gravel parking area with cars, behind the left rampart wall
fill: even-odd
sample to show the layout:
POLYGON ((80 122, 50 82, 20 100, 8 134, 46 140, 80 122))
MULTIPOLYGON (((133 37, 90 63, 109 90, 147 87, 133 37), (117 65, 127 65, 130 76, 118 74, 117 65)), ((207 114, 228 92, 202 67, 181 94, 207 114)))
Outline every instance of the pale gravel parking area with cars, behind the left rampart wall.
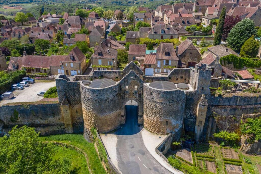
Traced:
POLYGON ((37 81, 33 84, 29 84, 23 90, 10 90, 14 93, 14 97, 10 100, 0 99, 0 106, 5 105, 7 103, 14 103, 14 102, 34 102, 43 99, 44 97, 38 96, 37 93, 40 91, 47 91, 49 88, 55 86, 54 82, 41 82, 37 81))

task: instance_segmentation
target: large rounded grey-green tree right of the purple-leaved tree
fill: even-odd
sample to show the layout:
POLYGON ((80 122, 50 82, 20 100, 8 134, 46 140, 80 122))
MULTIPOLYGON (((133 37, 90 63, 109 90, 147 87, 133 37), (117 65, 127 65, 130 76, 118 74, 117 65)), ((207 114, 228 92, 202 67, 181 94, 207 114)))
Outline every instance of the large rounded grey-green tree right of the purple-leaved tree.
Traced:
POLYGON ((228 46, 240 50, 242 45, 257 32, 253 20, 244 19, 238 22, 229 32, 227 37, 228 46))

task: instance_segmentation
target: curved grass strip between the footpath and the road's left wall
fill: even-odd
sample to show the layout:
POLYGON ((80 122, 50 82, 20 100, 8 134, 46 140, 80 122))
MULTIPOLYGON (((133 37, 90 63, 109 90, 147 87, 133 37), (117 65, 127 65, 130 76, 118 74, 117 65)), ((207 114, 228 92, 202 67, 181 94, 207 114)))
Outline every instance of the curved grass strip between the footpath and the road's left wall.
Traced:
POLYGON ((43 141, 55 141, 55 142, 67 143, 72 146, 80 148, 87 154, 88 163, 92 173, 99 173, 99 174, 106 173, 99 159, 99 156, 96 153, 94 144, 87 142, 84 139, 83 135, 62 134, 62 135, 45 136, 41 138, 43 139, 43 141))

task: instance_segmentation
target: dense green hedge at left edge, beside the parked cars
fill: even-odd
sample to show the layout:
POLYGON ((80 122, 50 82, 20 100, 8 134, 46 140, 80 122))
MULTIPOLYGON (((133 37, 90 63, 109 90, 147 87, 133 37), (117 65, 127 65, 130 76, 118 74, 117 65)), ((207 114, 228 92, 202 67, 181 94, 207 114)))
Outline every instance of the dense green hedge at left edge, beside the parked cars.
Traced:
POLYGON ((3 94, 4 92, 10 90, 11 85, 21 82, 22 78, 25 76, 26 72, 23 70, 10 73, 0 71, 0 94, 3 94))

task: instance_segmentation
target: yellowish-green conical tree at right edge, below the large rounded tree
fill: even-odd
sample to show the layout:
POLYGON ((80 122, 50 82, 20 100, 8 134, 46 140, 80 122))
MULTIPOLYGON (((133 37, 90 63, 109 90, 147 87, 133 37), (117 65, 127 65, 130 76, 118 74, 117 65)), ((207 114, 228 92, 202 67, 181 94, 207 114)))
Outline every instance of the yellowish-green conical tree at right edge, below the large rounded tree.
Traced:
POLYGON ((240 56, 241 57, 256 57, 258 54, 259 43, 255 40, 254 35, 246 40, 244 45, 241 47, 240 56))

